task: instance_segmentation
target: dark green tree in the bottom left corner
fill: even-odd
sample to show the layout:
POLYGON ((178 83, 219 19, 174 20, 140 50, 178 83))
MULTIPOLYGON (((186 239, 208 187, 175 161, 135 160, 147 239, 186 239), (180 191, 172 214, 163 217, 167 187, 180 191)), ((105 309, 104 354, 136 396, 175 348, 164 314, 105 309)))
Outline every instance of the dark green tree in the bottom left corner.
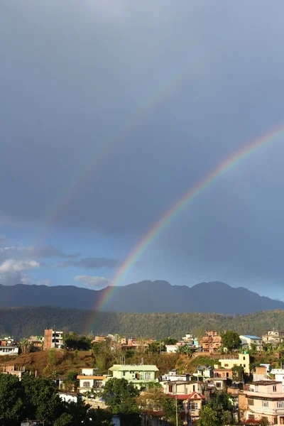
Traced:
POLYGON ((19 425, 23 408, 21 382, 16 376, 0 374, 0 425, 19 425))

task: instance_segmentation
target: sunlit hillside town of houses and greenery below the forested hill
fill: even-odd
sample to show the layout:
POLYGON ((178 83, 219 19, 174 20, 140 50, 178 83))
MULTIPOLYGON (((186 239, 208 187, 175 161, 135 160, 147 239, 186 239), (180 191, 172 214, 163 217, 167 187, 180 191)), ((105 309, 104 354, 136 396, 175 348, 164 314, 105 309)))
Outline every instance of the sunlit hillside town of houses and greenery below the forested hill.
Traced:
MULTIPOLYGON (((20 342, 11 337, 0 339, 0 354, 0 383, 7 375, 18 381, 25 375, 35 380, 43 376, 53 382, 64 403, 104 410, 111 414, 110 424, 114 425, 126 424, 124 415, 131 414, 129 408, 124 413, 121 401, 119 409, 112 410, 114 383, 131 386, 133 395, 129 393, 128 399, 137 409, 141 425, 284 424, 284 332, 276 329, 262 337, 226 330, 208 331, 200 337, 186 334, 180 340, 118 334, 92 338, 45 329, 42 337, 20 342), (79 368, 76 359, 88 352, 93 356, 92 365, 88 361, 79 368), (40 353, 48 356, 43 371, 31 363, 18 364, 20 359, 28 362, 28 356, 40 353), (60 354, 72 356, 70 371, 63 376, 56 371, 60 354)), ((18 425, 40 425, 42 420, 28 421, 21 419, 18 425)), ((130 419, 128 424, 136 423, 130 419)))

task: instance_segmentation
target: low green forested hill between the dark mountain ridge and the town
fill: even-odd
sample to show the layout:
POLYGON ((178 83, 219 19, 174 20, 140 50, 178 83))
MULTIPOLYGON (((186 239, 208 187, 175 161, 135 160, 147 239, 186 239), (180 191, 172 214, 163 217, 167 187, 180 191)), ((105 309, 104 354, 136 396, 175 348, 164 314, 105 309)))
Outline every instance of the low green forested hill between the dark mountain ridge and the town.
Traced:
POLYGON ((127 337, 180 337, 205 330, 234 329, 239 334, 262 335, 267 329, 284 329, 284 311, 256 312, 249 315, 221 314, 131 314, 65 309, 60 307, 14 307, 0 309, 0 336, 16 339, 42 335, 47 327, 94 334, 119 333, 127 337), (95 319, 94 319, 95 318, 95 319), (94 319, 94 320, 92 320, 94 319))

